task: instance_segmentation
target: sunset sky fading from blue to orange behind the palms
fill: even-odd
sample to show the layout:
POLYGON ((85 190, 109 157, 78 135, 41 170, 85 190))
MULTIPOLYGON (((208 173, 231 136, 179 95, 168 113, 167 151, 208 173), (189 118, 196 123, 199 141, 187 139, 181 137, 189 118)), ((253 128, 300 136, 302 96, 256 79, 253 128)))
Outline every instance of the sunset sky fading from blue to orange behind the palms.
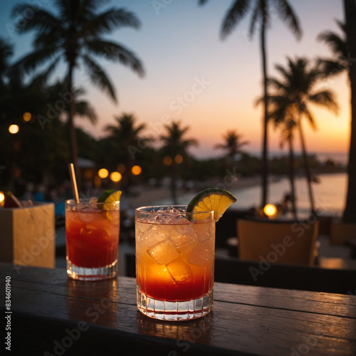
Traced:
MULTIPOLYGON (((38 3, 51 9, 49 0, 2 0, 0 36, 15 44, 14 60, 31 51, 31 34, 14 33, 16 18, 10 17, 14 4, 38 3)), ((163 123, 181 120, 189 126, 187 138, 195 138, 199 147, 191 152, 198 157, 221 155, 214 146, 223 142, 228 130, 237 130, 248 140, 246 150, 259 152, 262 141, 262 106, 255 102, 262 95, 262 70, 259 36, 247 38, 251 21, 248 13, 224 41, 219 38, 221 21, 232 0, 122 0, 108 6, 123 7, 142 22, 139 31, 121 28, 110 36, 130 48, 142 60, 146 75, 138 78, 120 64, 100 60, 117 89, 118 105, 93 87, 83 70, 76 70, 75 84, 87 90, 86 99, 98 113, 93 126, 82 119, 77 125, 95 137, 103 137, 103 127, 114 123, 114 116, 132 113, 137 122, 147 124, 147 135, 164 134, 163 123)), ((286 65, 286 56, 314 59, 331 55, 325 44, 317 41, 325 30, 339 32, 336 19, 342 20, 341 0, 290 0, 300 20, 303 36, 297 41, 287 26, 273 15, 267 32, 268 71, 276 76, 274 66, 286 65)), ((56 76, 63 78, 66 67, 59 66, 56 76)), ((54 78, 53 78, 54 79, 54 78)), ((320 83, 318 88, 334 90, 340 105, 335 116, 323 108, 311 107, 318 130, 305 121, 309 152, 347 152, 350 127, 350 92, 347 75, 320 83)), ((24 108, 25 109, 25 108, 24 108)), ((35 113, 36 114, 36 113, 35 113)), ((281 152, 280 135, 271 126, 269 149, 281 152)), ((45 133, 45 132, 44 132, 45 133)), ((296 150, 299 141, 296 141, 296 150)))

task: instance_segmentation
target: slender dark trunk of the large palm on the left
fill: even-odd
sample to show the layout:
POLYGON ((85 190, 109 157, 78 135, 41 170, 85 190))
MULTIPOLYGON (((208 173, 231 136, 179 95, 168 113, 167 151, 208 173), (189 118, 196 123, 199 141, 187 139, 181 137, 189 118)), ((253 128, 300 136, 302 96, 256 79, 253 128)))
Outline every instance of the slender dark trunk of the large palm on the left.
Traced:
POLYGON ((78 190, 80 191, 80 171, 78 164, 78 145, 77 145, 77 137, 75 135, 75 127, 74 127, 74 113, 75 113, 75 98, 73 93, 73 68, 74 64, 72 61, 68 63, 68 92, 70 93, 70 103, 68 110, 68 127, 69 127, 69 135, 70 135, 70 159, 74 166, 75 176, 77 180, 78 190))

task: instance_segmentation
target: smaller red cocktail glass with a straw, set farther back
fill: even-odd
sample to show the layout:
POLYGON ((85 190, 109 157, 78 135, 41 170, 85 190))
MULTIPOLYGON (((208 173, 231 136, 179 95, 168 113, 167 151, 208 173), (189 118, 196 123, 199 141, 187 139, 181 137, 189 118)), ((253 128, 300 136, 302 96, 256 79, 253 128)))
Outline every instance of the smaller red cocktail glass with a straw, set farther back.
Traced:
POLYGON ((66 201, 67 273, 82 281, 116 276, 120 201, 66 201))

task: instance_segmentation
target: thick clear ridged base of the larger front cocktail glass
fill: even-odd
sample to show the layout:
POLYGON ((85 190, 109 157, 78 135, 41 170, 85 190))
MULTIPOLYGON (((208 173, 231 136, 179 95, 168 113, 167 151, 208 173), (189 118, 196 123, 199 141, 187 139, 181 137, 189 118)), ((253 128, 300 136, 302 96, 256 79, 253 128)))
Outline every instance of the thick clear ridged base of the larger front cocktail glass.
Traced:
POLYGON ((201 298, 169 302, 150 298, 137 287, 137 308, 150 318, 159 320, 191 320, 201 318, 213 308, 214 290, 201 298))

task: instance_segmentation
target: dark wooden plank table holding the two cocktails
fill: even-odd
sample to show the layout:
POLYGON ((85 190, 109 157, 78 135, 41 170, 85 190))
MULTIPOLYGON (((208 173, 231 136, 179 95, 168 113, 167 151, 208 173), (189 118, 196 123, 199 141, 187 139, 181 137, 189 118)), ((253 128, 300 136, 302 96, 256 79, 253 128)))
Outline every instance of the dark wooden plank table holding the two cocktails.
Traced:
POLYGON ((12 355, 356 355, 355 295, 216 283, 209 315, 163 322, 138 312, 134 278, 80 282, 11 264, 0 275, 12 355))

